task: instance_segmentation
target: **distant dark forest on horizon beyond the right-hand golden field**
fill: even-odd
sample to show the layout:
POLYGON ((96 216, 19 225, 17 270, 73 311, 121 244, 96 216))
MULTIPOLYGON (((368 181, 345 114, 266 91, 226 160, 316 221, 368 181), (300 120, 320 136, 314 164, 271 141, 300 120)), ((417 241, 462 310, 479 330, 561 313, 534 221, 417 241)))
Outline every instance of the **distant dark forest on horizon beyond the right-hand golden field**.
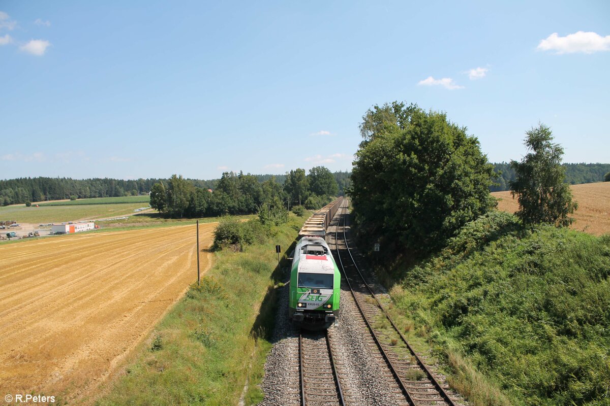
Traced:
MULTIPOLYGON (((581 184, 594 183, 604 180, 604 175, 610 172, 610 164, 563 164, 565 167, 565 183, 581 184)), ((500 177, 494 181, 497 186, 490 187, 492 192, 508 191, 509 181, 515 180, 515 171, 512 170, 510 163, 493 164, 496 173, 500 177)))

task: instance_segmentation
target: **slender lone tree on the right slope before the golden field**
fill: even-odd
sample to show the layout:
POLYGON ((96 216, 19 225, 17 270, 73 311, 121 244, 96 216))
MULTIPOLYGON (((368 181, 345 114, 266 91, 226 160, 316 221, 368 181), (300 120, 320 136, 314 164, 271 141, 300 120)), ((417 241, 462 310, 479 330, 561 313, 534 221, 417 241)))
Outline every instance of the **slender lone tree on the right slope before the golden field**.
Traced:
POLYGON ((517 216, 526 224, 551 223, 570 225, 569 217, 578 203, 572 201, 570 186, 564 183, 565 168, 561 166, 564 149, 554 144, 551 129, 544 124, 526 132, 525 146, 529 153, 521 162, 511 161, 515 180, 511 194, 519 199, 517 216))

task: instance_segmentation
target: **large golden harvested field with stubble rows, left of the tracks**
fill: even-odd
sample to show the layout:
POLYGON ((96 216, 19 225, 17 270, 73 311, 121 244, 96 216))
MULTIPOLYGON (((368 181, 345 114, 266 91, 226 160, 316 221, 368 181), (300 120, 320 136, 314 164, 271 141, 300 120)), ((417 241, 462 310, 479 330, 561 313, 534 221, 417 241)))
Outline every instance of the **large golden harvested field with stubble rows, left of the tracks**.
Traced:
MULTIPOLYGON (((209 248, 215 223, 199 226, 209 248)), ((196 280, 195 225, 0 247, 0 393, 90 393, 196 280)), ((207 270, 211 254, 201 255, 207 270)))

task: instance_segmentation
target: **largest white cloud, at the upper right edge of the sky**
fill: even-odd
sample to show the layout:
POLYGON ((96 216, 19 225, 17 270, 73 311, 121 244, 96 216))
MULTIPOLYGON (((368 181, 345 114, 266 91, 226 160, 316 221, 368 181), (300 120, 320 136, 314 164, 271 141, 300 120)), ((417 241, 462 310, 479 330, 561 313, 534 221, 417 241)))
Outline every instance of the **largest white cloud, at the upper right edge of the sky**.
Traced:
POLYGON ((554 32, 546 40, 541 40, 537 49, 556 51, 557 54, 573 54, 575 52, 592 54, 598 51, 610 51, 610 35, 601 37, 595 32, 578 31, 565 37, 559 37, 558 33, 554 32))

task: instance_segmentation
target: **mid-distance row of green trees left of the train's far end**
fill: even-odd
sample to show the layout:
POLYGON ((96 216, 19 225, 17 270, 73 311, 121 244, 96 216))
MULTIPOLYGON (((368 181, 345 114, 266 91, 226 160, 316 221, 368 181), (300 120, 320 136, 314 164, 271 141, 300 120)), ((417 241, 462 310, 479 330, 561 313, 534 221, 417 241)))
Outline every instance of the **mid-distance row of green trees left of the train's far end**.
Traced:
POLYGON ((294 206, 318 209, 339 193, 333 174, 323 166, 306 173, 291 170, 284 184, 275 177, 260 182, 256 175, 224 172, 213 189, 195 186, 181 175, 159 181, 151 189, 151 207, 170 218, 253 214, 276 218, 294 206))

